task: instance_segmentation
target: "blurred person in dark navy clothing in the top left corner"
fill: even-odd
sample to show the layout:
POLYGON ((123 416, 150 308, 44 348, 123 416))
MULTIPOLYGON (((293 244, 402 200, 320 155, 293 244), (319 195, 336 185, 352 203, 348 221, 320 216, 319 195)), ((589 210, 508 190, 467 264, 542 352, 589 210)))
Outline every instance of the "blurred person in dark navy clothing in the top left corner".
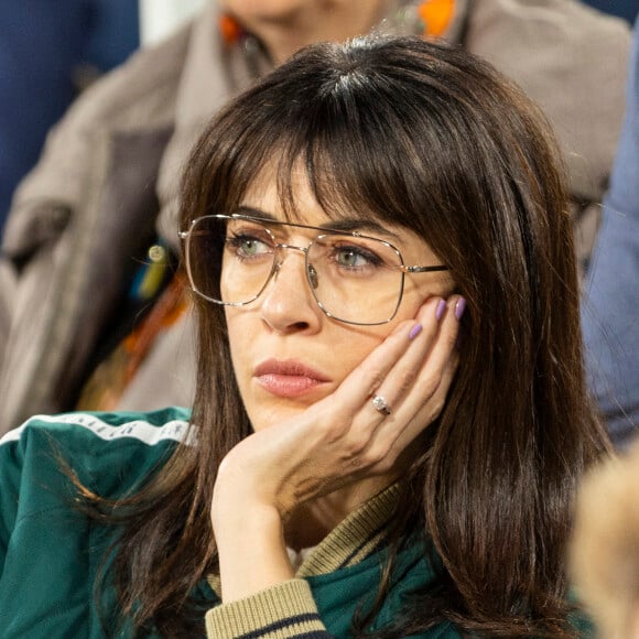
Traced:
POLYGON ((24 0, 0 9, 0 235, 48 129, 139 43, 134 0, 24 0))

